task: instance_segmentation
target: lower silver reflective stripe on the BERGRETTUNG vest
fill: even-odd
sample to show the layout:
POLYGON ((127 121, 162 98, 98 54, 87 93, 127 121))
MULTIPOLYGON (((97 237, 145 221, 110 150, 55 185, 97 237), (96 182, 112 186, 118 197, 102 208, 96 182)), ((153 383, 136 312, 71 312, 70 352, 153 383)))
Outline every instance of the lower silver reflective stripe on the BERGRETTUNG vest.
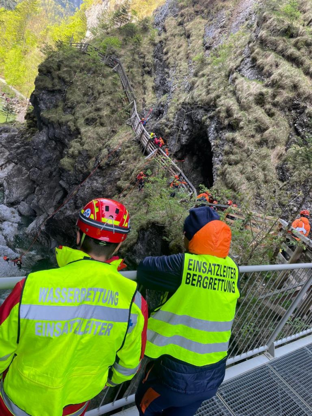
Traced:
POLYGON ((167 345, 177 345, 185 350, 196 352, 198 354, 210 354, 213 352, 227 351, 228 341, 213 344, 202 344, 201 342, 191 341, 180 335, 163 336, 151 329, 147 330, 147 339, 157 347, 165 347, 167 345))

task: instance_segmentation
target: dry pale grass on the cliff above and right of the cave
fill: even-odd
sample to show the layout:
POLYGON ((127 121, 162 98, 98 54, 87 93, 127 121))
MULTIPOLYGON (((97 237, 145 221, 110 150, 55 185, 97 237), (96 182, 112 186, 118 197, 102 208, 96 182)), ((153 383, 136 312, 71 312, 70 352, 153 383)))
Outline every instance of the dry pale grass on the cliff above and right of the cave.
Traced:
MULTIPOLYGON (((261 31, 255 38, 255 26, 249 23, 230 33, 236 3, 204 6, 186 1, 177 19, 166 19, 161 42, 175 88, 161 124, 172 133, 179 128, 175 118, 183 106, 213 108, 210 116, 217 116, 226 140, 216 184, 249 198, 261 194, 265 185, 280 187, 276 167, 285 158, 293 103, 302 103, 308 118, 312 116, 312 5, 298 1, 290 24, 288 0, 266 1, 259 10, 261 31), (215 38, 204 39, 204 28, 217 26, 222 10, 223 34, 205 50, 204 40, 214 45, 215 38), (245 56, 258 79, 248 79, 238 69, 245 56)), ((202 123, 208 128, 209 118, 202 123)))

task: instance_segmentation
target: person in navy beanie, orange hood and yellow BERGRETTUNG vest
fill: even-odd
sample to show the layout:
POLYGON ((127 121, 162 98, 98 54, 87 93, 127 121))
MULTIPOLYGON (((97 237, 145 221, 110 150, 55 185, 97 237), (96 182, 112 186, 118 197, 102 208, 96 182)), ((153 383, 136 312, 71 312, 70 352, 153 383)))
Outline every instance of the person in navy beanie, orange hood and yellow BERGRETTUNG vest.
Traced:
POLYGON ((230 227, 209 207, 191 209, 184 223, 185 254, 147 257, 138 283, 168 292, 148 322, 139 383, 140 416, 193 416, 216 394, 239 292, 239 269, 228 257, 230 227))

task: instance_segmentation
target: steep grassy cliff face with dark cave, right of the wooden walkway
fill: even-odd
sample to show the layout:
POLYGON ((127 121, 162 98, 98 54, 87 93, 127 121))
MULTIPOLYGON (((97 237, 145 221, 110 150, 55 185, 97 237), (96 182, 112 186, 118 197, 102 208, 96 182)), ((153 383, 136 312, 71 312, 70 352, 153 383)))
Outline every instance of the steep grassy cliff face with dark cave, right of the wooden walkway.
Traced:
MULTIPOLYGON (((168 139, 195 185, 255 200, 293 175, 284 156, 312 133, 312 7, 299 1, 290 35, 284 4, 169 0, 156 12, 150 130, 168 139)), ((296 196, 294 183, 284 187, 296 196)))

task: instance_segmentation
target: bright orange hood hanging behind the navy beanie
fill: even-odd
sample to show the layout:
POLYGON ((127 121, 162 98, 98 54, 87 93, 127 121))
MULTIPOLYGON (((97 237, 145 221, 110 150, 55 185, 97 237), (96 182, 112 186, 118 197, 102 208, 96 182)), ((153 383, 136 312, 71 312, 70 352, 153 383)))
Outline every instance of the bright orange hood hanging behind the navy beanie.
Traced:
POLYGON ((189 242, 189 252, 225 258, 230 250, 230 227, 220 220, 208 222, 189 242))

